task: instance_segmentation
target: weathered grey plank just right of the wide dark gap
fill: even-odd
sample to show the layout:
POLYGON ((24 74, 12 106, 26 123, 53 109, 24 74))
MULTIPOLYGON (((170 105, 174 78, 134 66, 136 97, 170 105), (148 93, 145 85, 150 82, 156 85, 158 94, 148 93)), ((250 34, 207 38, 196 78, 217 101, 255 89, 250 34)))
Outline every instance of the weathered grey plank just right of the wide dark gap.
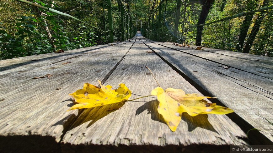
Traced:
MULTIPOLYGON (((155 43, 147 42, 147 45, 189 77, 189 80, 218 97, 217 99, 224 105, 232 108, 250 125, 259 129, 267 139, 273 140, 272 125, 266 121, 273 118, 272 80, 234 68, 224 69, 221 64, 155 43)), ((238 62, 233 64, 236 65, 238 62)), ((262 142, 259 138, 256 139, 262 142)))

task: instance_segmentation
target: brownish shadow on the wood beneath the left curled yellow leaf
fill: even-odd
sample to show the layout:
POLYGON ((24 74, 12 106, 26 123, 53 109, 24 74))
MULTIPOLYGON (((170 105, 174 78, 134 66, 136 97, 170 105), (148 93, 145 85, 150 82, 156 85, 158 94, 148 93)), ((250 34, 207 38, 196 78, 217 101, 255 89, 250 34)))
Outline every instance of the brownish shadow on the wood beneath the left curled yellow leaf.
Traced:
MULTIPOLYGON (((71 106, 71 104, 72 103, 67 104, 67 106, 71 106)), ((63 125, 63 133, 66 133, 67 131, 74 129, 75 127, 78 127, 83 123, 90 121, 88 123, 88 126, 86 127, 88 128, 89 126, 92 126, 96 121, 99 121, 101 118, 107 116, 114 111, 119 110, 124 104, 125 102, 119 102, 94 108, 79 109, 77 116, 75 114, 68 115, 52 126, 63 125)))

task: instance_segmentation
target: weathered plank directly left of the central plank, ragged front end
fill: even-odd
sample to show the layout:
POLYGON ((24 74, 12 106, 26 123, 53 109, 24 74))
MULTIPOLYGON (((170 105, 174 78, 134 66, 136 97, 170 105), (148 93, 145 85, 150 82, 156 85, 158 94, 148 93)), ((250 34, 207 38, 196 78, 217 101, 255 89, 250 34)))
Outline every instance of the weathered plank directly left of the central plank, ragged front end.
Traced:
MULTIPOLYGON (((65 65, 58 62, 27 72, 9 73, 8 77, 0 72, 1 142, 14 138, 12 141, 20 143, 26 141, 29 136, 27 142, 31 143, 26 147, 30 147, 36 140, 37 143, 40 142, 38 140, 45 140, 44 146, 54 147, 51 148, 52 151, 60 149, 56 148, 59 145, 54 145, 52 141, 58 143, 61 140, 77 114, 77 111, 67 112, 72 105, 68 94, 82 87, 85 82, 98 84, 98 79, 108 77, 131 44, 115 45, 111 50, 105 48, 84 54, 79 58, 69 59, 71 63, 65 65), (52 75, 50 78, 33 79, 48 73, 52 75)), ((11 142, 5 143, 4 149, 13 150, 14 146, 9 144, 12 145, 11 142)), ((41 145, 43 146, 35 144, 35 147, 41 145)))

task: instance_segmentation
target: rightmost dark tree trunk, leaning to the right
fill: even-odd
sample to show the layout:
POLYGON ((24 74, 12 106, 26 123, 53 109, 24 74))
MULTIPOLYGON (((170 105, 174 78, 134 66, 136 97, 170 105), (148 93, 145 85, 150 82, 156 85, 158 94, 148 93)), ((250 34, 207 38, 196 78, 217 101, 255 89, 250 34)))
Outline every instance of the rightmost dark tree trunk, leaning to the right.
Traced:
MULTIPOLYGON (((264 0, 263 7, 267 6, 268 2, 269 2, 269 0, 264 0)), ((260 12, 260 14, 258 15, 258 17, 254 23, 254 26, 250 32, 249 38, 246 41, 243 53, 249 53, 249 50, 254 42, 254 39, 260 29, 260 25, 261 25, 264 18, 265 18, 265 12, 264 11, 260 12)))

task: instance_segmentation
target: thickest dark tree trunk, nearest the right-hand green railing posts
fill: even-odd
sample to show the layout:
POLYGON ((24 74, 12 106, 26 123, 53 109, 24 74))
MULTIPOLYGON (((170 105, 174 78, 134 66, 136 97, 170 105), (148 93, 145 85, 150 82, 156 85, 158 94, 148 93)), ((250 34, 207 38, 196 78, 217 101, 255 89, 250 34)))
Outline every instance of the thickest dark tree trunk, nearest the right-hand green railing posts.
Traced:
MULTIPOLYGON (((205 23, 213 1, 214 0, 202 0, 201 1, 202 2, 202 10, 201 10, 201 13, 199 16, 198 24, 205 23)), ((197 27, 196 44, 195 44, 196 46, 201 46, 201 41, 202 41, 201 35, 203 32, 203 27, 204 26, 197 27)))

